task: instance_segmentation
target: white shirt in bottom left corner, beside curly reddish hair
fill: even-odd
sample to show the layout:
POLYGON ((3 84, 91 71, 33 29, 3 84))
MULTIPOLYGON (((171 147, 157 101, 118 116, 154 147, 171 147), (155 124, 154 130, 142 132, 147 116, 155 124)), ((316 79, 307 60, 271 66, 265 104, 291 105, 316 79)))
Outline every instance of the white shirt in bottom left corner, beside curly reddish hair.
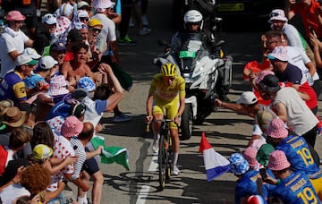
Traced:
POLYGON ((30 196, 30 191, 20 184, 9 185, 0 192, 2 203, 13 203, 14 200, 21 196, 30 196))

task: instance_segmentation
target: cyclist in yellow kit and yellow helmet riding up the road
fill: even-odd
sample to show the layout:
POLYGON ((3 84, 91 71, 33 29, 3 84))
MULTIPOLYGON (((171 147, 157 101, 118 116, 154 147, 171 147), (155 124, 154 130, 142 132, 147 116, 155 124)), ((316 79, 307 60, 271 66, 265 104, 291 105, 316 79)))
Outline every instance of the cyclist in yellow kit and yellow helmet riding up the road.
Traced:
POLYGON ((165 109, 166 117, 173 119, 174 122, 169 124, 170 134, 173 142, 173 169, 171 174, 178 175, 180 171, 177 167, 179 156, 180 140, 178 132, 178 124, 181 123, 181 115, 184 110, 185 99, 185 82, 181 76, 177 75, 174 64, 164 64, 160 73, 153 76, 151 86, 148 91, 147 99, 147 116, 146 122, 152 123, 154 140, 152 150, 157 153, 158 140, 160 138, 161 122, 165 109), (155 120, 153 120, 155 119, 155 120))

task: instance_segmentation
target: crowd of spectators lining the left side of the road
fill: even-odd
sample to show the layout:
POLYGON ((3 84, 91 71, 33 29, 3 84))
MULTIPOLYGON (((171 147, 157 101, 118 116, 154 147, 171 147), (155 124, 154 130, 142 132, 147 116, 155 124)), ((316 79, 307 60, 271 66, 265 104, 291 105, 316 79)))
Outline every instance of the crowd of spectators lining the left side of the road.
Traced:
MULTIPOLYGON (((121 14, 119 0, 47 1, 45 13, 40 1, 21 2, 5 7, 0 37, 0 199, 66 203, 69 182, 78 203, 101 203, 104 178, 94 157, 102 146, 89 150, 89 141, 105 112, 114 111, 114 123, 131 120, 118 107, 131 87, 114 72, 122 70, 118 39, 133 40, 117 38, 116 25, 139 3, 121 14)), ((139 34, 149 32, 140 23, 139 34)))

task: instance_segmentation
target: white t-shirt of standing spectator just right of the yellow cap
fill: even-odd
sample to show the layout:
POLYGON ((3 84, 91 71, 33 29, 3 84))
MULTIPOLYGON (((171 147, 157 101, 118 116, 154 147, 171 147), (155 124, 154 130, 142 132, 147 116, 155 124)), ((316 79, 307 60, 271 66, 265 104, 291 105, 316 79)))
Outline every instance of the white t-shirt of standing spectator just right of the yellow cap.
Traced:
POLYGON ((116 41, 116 30, 114 21, 107 18, 107 16, 103 13, 97 13, 91 17, 91 19, 97 19, 101 21, 103 24, 102 31, 97 36, 97 42, 95 43, 95 47, 99 47, 101 42, 106 42, 107 47, 106 50, 101 50, 103 55, 109 55, 109 46, 108 43, 110 41, 116 41))

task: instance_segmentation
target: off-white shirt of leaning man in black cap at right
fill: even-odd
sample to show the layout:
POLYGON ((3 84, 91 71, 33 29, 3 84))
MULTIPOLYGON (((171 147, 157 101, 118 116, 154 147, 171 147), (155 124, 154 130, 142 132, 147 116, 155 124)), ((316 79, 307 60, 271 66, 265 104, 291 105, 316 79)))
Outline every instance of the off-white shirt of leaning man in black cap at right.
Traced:
POLYGON ((309 110, 309 107, 301 99, 296 89, 285 87, 277 91, 273 106, 281 102, 286 108, 287 125, 297 135, 309 132, 317 125, 316 115, 309 110))

